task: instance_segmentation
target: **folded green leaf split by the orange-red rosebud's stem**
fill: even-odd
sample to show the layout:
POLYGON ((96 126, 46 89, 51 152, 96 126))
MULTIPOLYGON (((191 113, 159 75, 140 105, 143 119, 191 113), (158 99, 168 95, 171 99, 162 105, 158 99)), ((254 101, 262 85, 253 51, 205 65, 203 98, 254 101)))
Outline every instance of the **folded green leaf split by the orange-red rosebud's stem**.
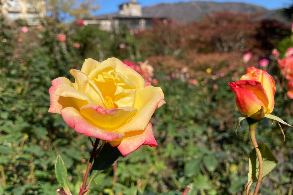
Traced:
MULTIPOLYGON (((262 178, 264 178, 276 167, 278 160, 276 159, 276 157, 273 155, 272 151, 269 149, 269 147, 266 144, 261 143, 258 145, 258 148, 260 149, 260 153, 263 158, 262 178)), ((247 186, 251 186, 251 184, 257 181, 258 168, 259 168, 258 158, 255 152, 255 149, 253 149, 249 156, 249 172, 248 172, 247 186)))

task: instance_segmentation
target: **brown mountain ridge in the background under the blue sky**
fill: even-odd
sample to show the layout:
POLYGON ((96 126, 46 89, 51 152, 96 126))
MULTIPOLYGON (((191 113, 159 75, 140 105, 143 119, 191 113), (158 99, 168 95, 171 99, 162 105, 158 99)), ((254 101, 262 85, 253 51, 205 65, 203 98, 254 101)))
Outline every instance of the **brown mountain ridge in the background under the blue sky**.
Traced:
POLYGON ((161 3, 153 6, 142 7, 142 13, 152 14, 154 16, 164 16, 175 19, 178 23, 191 23, 200 21, 204 15, 213 12, 240 12, 253 14, 262 12, 260 19, 276 18, 279 22, 289 23, 290 21, 282 16, 281 9, 269 10, 267 8, 238 2, 214 2, 214 1, 189 1, 179 3, 161 3))

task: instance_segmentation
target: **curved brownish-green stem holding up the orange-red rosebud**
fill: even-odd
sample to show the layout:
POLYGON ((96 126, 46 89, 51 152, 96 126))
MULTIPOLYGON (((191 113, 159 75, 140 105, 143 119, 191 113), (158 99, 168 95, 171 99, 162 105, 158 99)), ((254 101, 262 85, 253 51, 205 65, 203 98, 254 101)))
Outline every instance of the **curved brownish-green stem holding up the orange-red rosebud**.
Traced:
POLYGON ((258 193, 258 189, 260 187, 260 182, 263 177, 263 158, 261 156, 260 150, 258 148, 258 144, 256 142, 256 138, 255 138, 255 130, 256 130, 256 126, 258 124, 258 120, 253 120, 251 118, 248 118, 248 120, 247 120, 247 122, 249 125, 250 138, 251 138, 253 147, 255 149, 255 152, 256 152, 256 155, 258 158, 258 164, 259 164, 259 166, 258 166, 258 168, 259 168, 258 169, 258 179, 257 179, 257 183, 256 183, 254 193, 253 193, 253 195, 256 195, 258 193))

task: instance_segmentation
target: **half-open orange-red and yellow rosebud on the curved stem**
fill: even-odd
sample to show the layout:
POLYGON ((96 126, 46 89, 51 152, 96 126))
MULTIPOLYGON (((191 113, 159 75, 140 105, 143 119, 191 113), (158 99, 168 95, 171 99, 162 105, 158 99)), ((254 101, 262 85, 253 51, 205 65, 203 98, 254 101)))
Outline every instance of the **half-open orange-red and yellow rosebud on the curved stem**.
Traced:
POLYGON ((273 111, 276 86, 272 76, 265 70, 255 67, 247 68, 246 75, 229 85, 236 95, 236 105, 243 115, 260 119, 264 116, 254 114, 262 107, 264 114, 270 114, 273 111))

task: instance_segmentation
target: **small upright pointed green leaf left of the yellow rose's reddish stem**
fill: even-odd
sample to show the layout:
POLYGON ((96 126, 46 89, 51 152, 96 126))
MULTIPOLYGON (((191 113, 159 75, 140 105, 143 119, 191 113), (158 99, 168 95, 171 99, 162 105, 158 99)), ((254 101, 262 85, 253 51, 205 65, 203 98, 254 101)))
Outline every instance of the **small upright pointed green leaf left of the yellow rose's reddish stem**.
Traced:
POLYGON ((58 153, 56 163, 55 163, 55 175, 56 179, 58 180, 59 184, 63 188, 68 188, 68 173, 67 169, 64 165, 64 161, 61 158, 60 154, 58 153))

